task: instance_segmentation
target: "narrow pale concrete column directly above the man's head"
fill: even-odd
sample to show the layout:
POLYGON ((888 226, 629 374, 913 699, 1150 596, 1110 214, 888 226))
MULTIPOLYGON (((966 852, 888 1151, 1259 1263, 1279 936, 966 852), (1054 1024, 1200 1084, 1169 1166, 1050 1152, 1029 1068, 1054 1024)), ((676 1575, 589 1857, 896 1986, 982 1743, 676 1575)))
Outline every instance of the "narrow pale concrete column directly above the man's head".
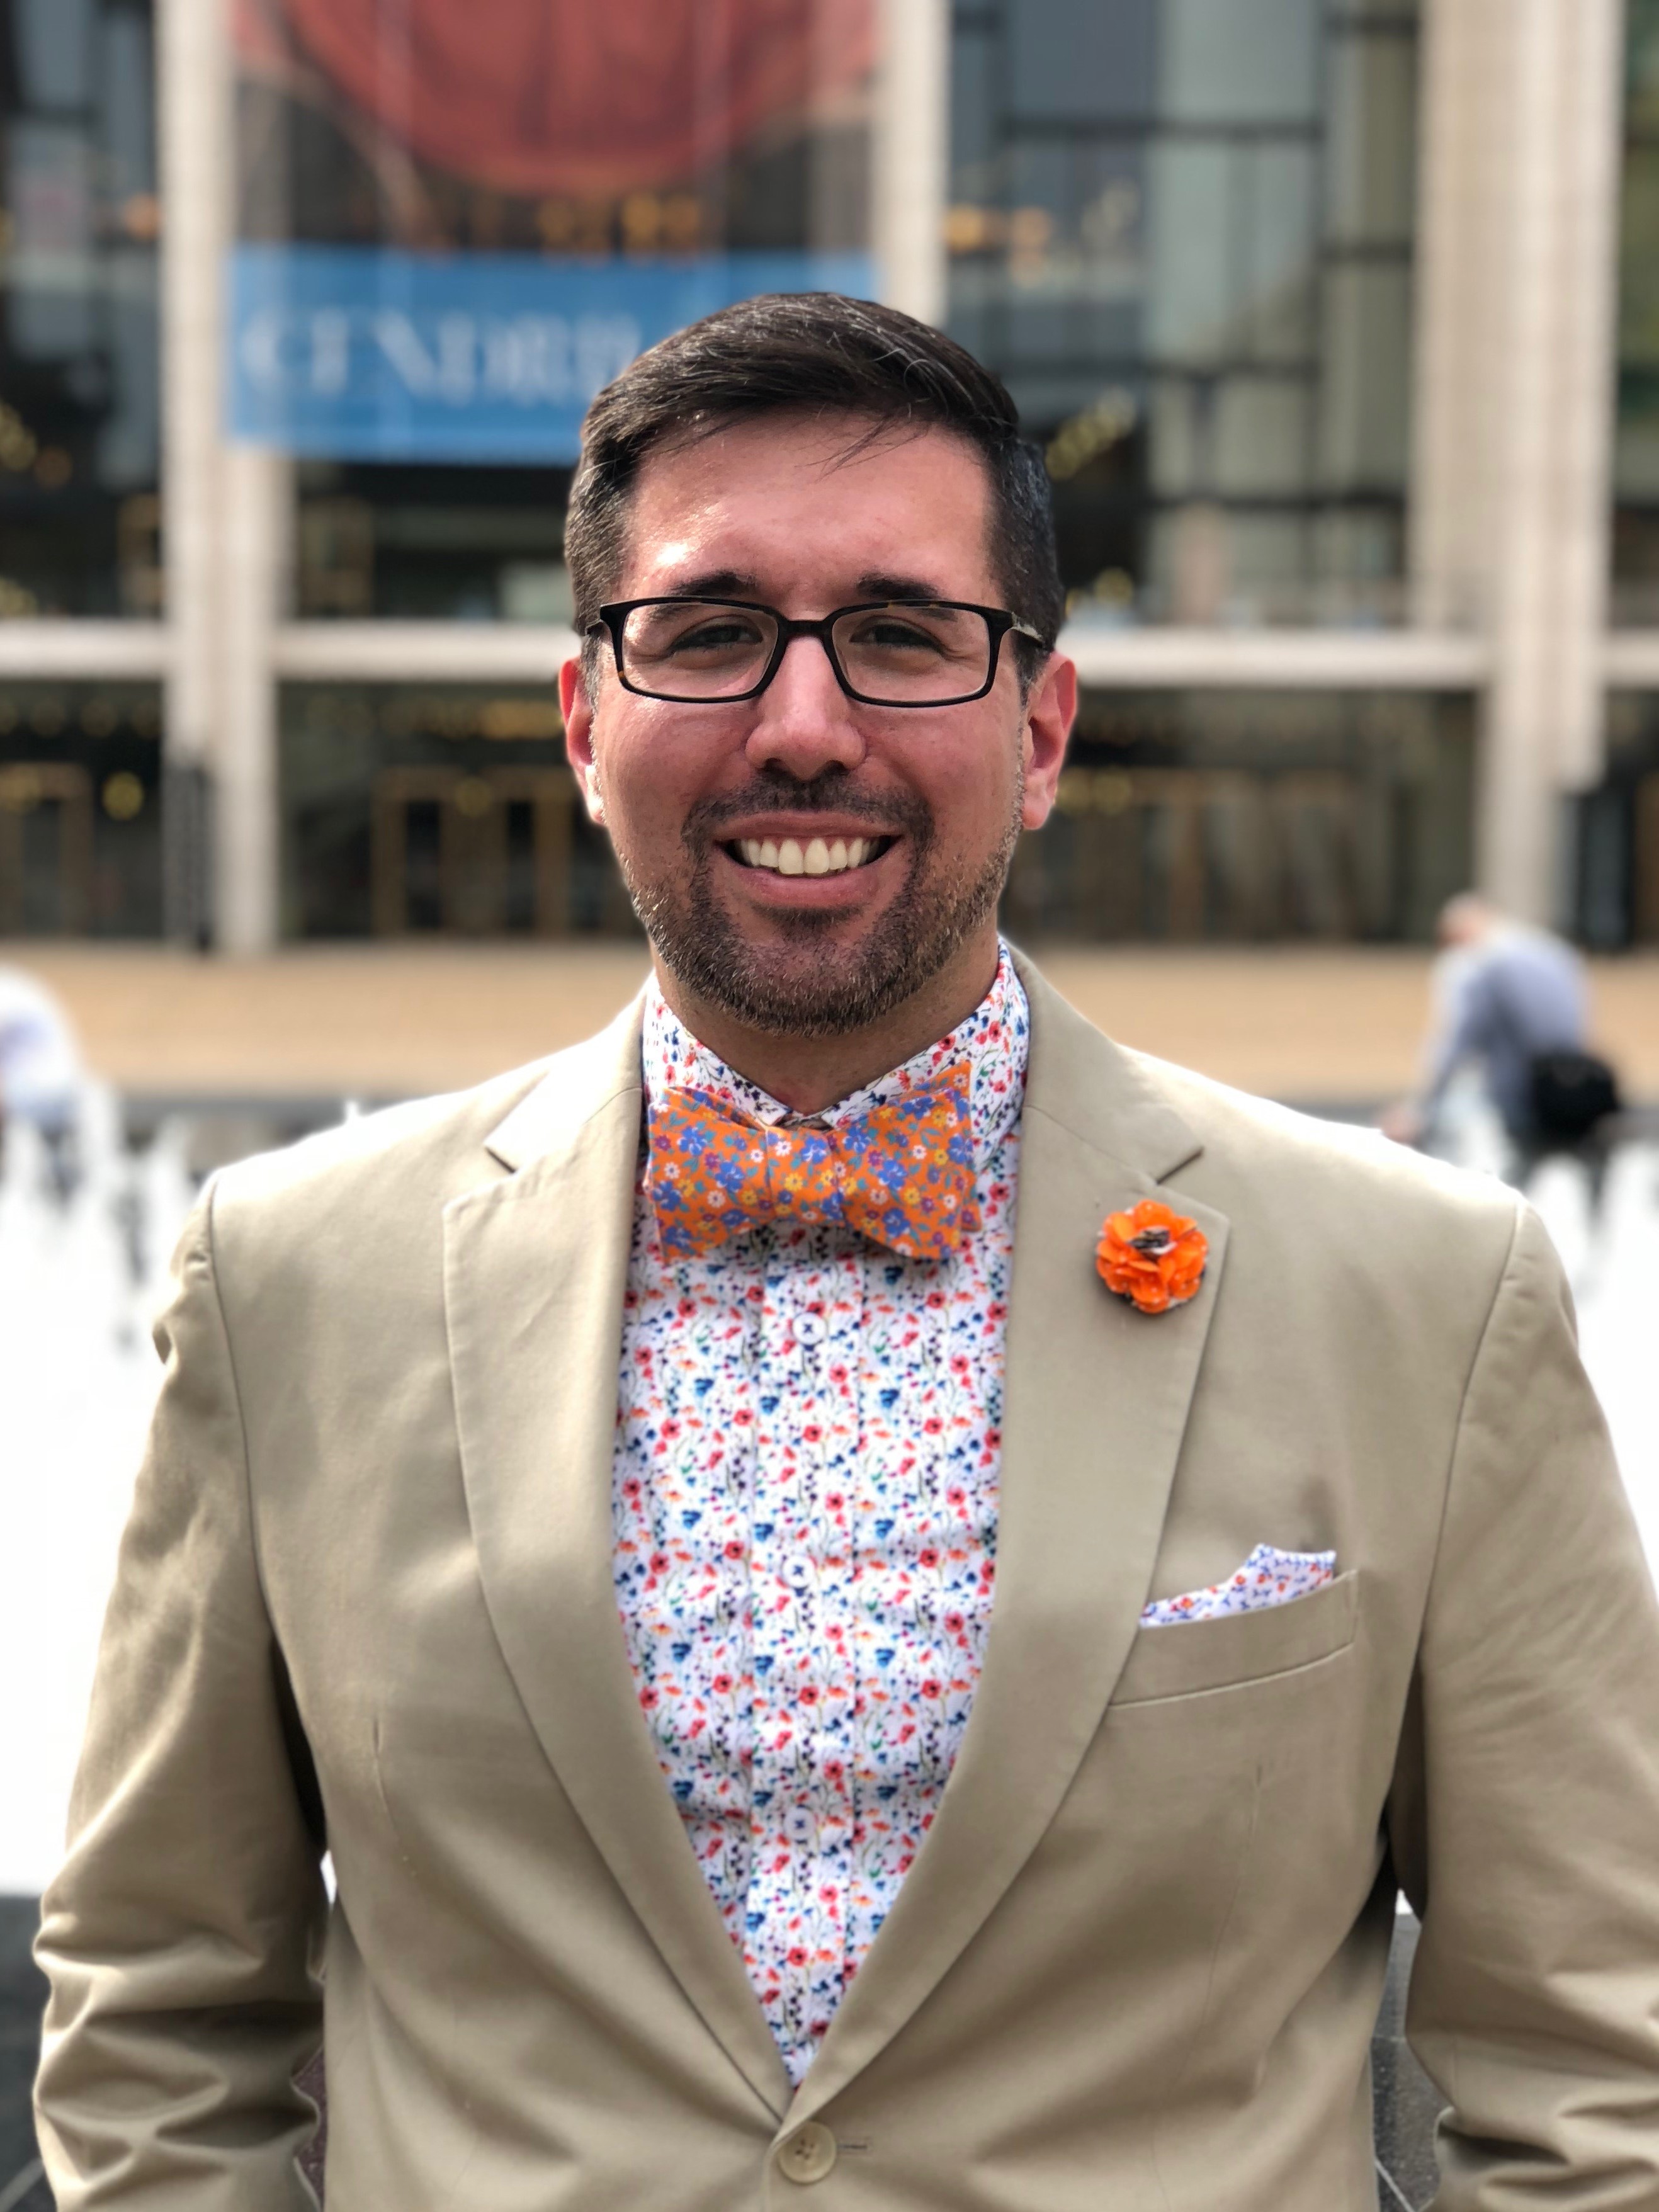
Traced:
POLYGON ((872 223, 880 296, 922 323, 942 323, 951 0, 883 0, 880 13, 872 223))

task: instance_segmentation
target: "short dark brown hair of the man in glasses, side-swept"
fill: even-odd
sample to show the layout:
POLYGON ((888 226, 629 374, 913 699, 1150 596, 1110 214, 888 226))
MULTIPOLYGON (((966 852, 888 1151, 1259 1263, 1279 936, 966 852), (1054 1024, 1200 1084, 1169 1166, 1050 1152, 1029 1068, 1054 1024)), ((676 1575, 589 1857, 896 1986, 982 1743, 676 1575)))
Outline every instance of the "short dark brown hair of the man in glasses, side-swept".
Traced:
MULTIPOLYGON (((1053 646, 1064 615, 1048 476, 998 376, 896 307, 838 292, 770 292, 639 354, 588 407, 564 557, 586 635, 628 551, 639 465, 666 438, 759 414, 845 414, 872 434, 940 427, 978 447, 991 482, 991 564, 1004 604, 1053 646)), ((858 440, 860 442, 860 440, 858 440)), ((1042 646, 1015 639, 1029 679, 1042 646)), ((591 641, 588 641, 591 650, 591 641)), ((593 677, 593 661, 584 653, 593 677)))

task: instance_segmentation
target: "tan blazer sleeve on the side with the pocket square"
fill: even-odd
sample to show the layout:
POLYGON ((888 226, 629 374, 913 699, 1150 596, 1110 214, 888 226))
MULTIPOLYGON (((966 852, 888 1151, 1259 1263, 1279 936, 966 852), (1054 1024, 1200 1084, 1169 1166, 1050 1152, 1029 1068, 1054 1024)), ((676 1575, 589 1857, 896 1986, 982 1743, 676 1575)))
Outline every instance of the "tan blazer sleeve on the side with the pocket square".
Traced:
POLYGON ((1522 1208, 1475 1356, 1391 1798, 1433 2212, 1659 2208, 1659 1613, 1522 1208))

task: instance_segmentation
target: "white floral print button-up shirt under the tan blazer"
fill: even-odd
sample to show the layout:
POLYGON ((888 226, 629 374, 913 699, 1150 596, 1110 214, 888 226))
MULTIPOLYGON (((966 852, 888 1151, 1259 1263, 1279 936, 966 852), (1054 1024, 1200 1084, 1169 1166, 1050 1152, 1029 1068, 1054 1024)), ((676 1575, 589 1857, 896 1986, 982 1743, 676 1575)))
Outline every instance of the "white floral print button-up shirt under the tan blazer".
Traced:
MULTIPOLYGON (((1004 949, 967 1022, 821 1117, 967 1068, 982 1225, 949 1261, 787 1223, 670 1261, 641 1159, 617 1604, 661 1770, 792 2081, 933 1820, 980 1674, 1026 1053, 1004 949)), ((790 1119, 655 989, 644 1079, 790 1119)))

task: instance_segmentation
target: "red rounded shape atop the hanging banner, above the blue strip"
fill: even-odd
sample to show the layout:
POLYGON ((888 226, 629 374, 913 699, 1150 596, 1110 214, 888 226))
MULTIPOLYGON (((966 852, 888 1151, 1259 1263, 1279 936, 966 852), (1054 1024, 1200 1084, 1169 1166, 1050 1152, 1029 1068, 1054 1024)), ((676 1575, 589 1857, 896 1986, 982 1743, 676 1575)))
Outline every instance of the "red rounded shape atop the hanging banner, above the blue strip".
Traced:
POLYGON ((239 0, 416 159, 526 197, 697 177, 874 62, 874 0, 239 0))

